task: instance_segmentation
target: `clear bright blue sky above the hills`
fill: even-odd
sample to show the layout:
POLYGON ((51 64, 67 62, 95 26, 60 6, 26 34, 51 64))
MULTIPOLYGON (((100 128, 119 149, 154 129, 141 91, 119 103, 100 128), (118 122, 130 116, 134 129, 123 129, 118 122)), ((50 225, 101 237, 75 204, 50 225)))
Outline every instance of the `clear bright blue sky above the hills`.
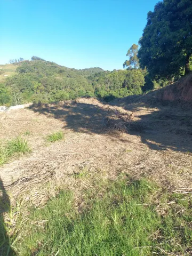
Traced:
POLYGON ((123 68, 158 0, 0 0, 0 64, 35 55, 70 68, 123 68))

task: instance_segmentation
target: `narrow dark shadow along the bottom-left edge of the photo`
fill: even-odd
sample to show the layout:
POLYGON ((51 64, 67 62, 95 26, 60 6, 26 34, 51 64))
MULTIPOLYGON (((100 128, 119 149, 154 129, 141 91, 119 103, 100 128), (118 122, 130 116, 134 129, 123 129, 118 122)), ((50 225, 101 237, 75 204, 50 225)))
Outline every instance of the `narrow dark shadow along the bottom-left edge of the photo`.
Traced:
POLYGON ((11 249, 9 237, 6 234, 4 213, 10 210, 10 199, 6 193, 3 182, 0 179, 0 255, 12 256, 15 255, 11 249))

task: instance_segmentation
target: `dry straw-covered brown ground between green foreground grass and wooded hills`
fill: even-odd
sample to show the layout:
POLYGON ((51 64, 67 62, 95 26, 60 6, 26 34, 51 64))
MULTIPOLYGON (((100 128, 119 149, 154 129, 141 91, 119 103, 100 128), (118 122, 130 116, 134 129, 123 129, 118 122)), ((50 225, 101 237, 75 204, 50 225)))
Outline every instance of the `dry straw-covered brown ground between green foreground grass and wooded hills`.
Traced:
POLYGON ((170 191, 191 191, 191 117, 186 107, 136 98, 110 105, 78 99, 0 113, 0 140, 20 135, 32 149, 0 167, 2 190, 12 203, 22 197, 39 205, 61 187, 81 189, 75 175, 86 172, 107 179, 147 177, 170 191), (116 123, 127 114, 131 119, 122 131, 116 123), (46 142, 47 134, 60 130, 65 140, 46 142))

